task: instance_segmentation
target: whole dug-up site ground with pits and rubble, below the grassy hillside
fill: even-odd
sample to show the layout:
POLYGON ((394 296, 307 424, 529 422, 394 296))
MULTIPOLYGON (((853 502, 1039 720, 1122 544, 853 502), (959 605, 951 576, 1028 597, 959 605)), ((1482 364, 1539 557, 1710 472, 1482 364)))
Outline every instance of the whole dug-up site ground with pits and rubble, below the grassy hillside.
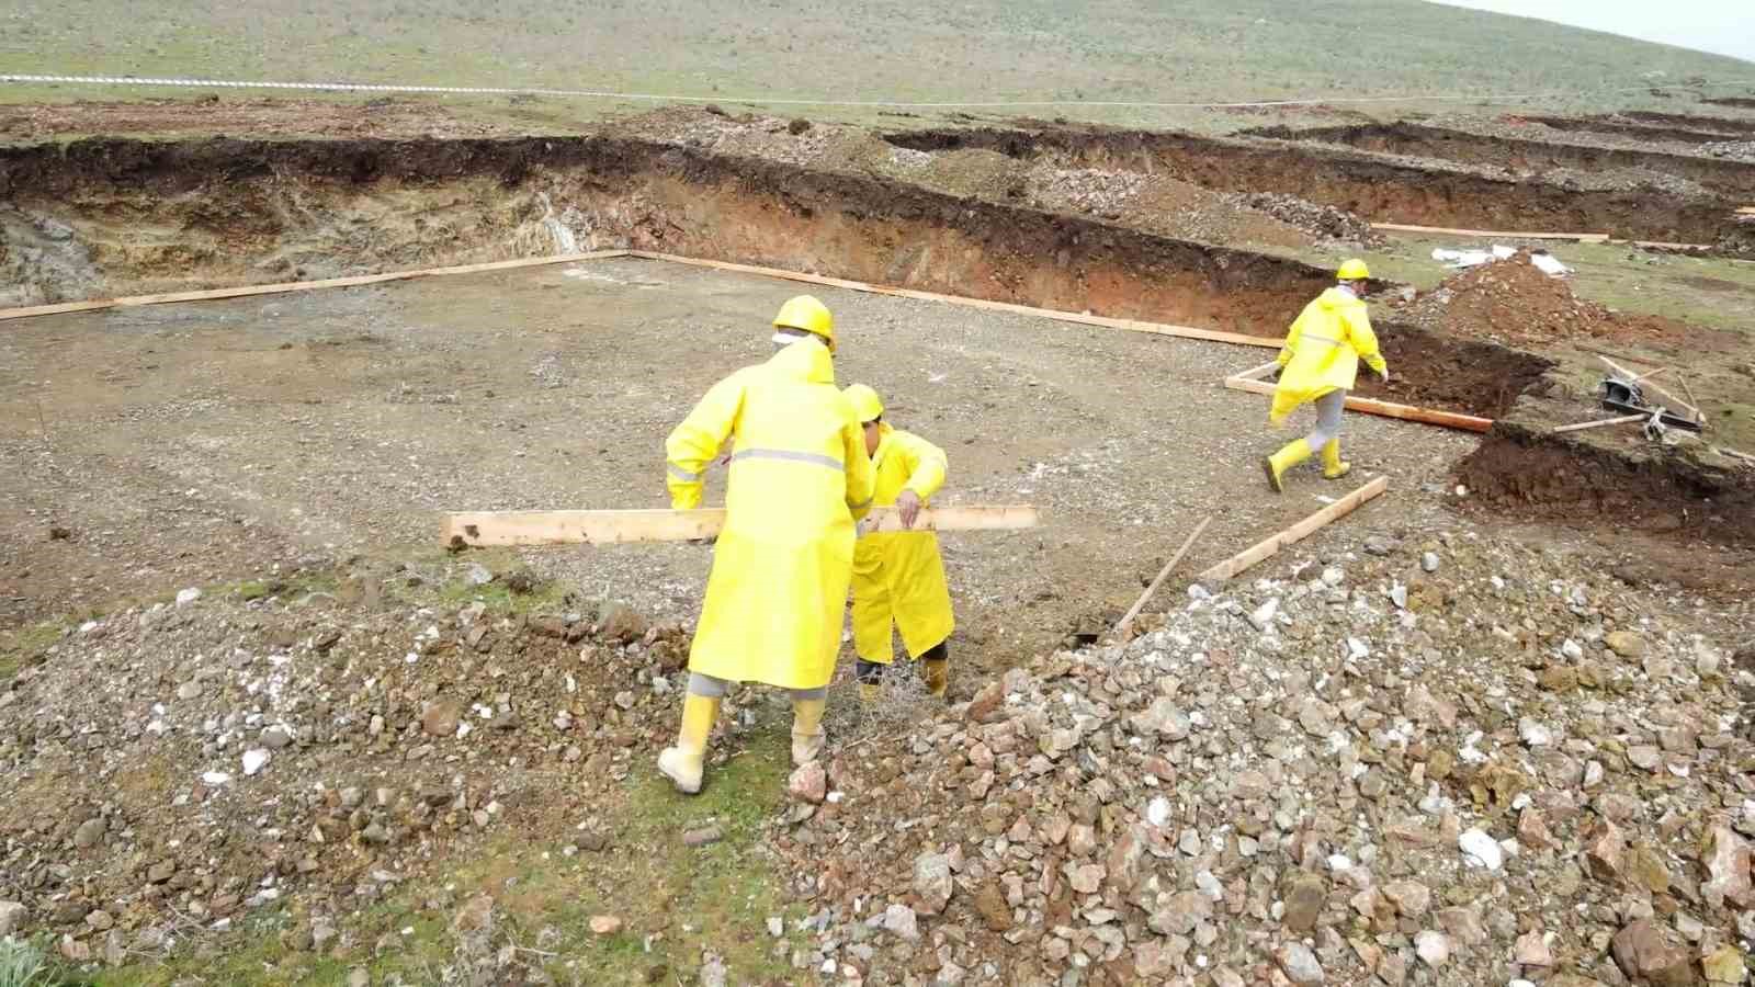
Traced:
POLYGON ((1221 383, 1271 346, 634 256, 0 321, 0 933, 63 983, 1739 983, 1755 163, 1739 107, 1671 109, 4 107, 7 306, 634 248, 1278 339, 1358 255, 1360 393, 1495 425, 1350 413, 1351 476, 1276 495, 1309 413, 1221 383), (1042 527, 941 536, 946 702, 862 706, 844 652, 793 776, 739 690, 686 799, 651 762, 711 546, 451 553, 437 515, 665 506, 665 434, 804 290, 942 504, 1042 527), (1706 432, 1553 434, 1602 355, 1706 432))

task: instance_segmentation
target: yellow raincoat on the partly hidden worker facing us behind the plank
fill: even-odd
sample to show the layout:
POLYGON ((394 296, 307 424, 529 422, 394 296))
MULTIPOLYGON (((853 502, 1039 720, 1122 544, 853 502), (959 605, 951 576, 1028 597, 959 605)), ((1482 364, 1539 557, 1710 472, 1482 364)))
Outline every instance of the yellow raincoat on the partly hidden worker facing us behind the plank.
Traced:
MULTIPOLYGON (((925 506, 944 486, 944 450, 890 425, 878 429, 876 502, 895 504, 913 490, 925 506)), ((872 532, 853 551, 853 650, 867 662, 890 664, 892 622, 902 629, 909 659, 935 648, 956 627, 939 536, 930 530, 872 532)))

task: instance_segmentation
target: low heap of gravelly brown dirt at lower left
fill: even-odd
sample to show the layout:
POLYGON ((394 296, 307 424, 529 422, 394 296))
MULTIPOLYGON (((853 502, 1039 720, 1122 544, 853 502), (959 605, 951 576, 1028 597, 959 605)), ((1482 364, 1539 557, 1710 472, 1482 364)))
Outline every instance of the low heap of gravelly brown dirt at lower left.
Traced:
POLYGON ((507 832, 602 850, 579 820, 648 769, 686 650, 621 606, 367 611, 302 590, 86 622, 0 692, 0 910, 74 961, 283 908, 309 948, 507 832))

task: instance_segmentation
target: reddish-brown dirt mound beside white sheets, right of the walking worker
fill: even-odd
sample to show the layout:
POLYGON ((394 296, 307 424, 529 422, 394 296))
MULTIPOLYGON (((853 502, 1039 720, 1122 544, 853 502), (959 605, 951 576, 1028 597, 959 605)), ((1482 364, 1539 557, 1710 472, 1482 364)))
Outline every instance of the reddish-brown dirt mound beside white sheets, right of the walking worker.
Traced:
POLYGON ((1580 299, 1564 277, 1550 277, 1530 251, 1469 267, 1422 292, 1413 302, 1392 302, 1397 318, 1504 346, 1558 346, 1578 341, 1688 344, 1701 330, 1664 316, 1616 313, 1580 299))

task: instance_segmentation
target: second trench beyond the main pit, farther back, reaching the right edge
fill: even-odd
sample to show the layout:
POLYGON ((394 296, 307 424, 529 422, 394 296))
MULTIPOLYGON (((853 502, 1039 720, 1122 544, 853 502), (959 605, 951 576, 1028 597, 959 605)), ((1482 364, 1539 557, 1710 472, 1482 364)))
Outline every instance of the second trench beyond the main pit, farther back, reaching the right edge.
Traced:
POLYGON ((1701 184, 1736 204, 1755 193, 1755 165, 1722 158, 1664 155, 1658 151, 1630 151, 1616 148, 1590 148, 1583 144, 1555 144, 1546 140, 1511 140, 1486 137, 1465 130, 1420 126, 1416 123, 1374 123, 1362 126, 1318 126, 1295 130, 1267 126, 1246 130, 1250 137, 1276 140, 1314 140, 1343 144, 1360 151, 1437 158, 1485 169, 1504 169, 1513 174, 1539 176, 1550 170, 1629 172, 1644 176, 1680 177, 1701 184))

